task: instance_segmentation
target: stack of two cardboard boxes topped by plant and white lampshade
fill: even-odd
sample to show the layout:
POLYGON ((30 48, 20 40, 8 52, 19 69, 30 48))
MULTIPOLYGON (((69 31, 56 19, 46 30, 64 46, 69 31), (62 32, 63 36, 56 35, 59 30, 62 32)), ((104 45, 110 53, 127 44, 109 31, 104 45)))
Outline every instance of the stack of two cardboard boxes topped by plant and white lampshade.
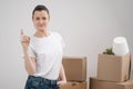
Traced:
POLYGON ((133 89, 130 79, 131 56, 99 55, 98 77, 90 78, 90 89, 133 89))

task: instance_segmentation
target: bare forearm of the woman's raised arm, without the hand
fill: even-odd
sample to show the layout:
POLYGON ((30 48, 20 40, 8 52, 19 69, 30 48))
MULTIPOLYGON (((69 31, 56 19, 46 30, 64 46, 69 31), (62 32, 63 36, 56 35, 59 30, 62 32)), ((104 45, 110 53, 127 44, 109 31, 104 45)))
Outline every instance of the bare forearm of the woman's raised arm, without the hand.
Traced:
POLYGON ((24 67, 29 75, 33 75, 35 72, 35 59, 31 59, 28 50, 23 50, 24 53, 24 67))

